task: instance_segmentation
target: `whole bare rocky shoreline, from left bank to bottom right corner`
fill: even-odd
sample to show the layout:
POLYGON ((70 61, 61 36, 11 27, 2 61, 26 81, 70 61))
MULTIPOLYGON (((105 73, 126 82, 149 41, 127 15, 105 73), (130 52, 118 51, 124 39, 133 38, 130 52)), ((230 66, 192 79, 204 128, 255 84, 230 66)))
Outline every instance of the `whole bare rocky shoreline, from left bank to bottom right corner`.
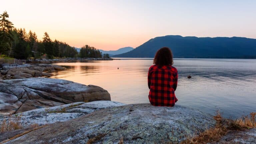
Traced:
MULTIPOLYGON (((111 101, 110 94, 98 86, 42 78, 64 69, 24 64, 0 70, 1 129, 4 123, 19 126, 0 131, 0 143, 180 143, 215 125, 213 116, 196 109, 125 105, 111 101)), ((229 131, 212 144, 255 141, 254 128, 229 131)))

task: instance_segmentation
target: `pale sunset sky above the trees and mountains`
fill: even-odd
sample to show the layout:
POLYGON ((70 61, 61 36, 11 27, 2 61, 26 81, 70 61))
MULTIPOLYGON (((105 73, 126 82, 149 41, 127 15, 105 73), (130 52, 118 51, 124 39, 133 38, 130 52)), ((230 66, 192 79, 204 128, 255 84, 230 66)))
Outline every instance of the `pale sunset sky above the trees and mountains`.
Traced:
POLYGON ((255 0, 5 0, 14 26, 70 46, 138 47, 157 36, 256 38, 255 0))

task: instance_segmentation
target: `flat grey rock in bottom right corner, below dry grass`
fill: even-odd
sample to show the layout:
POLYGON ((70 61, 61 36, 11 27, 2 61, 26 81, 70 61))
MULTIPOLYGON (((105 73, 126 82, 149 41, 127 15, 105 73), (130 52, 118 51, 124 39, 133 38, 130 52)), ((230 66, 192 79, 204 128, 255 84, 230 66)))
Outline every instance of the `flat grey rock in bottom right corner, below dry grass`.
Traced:
POLYGON ((229 131, 220 141, 211 144, 255 144, 256 128, 244 131, 229 131))

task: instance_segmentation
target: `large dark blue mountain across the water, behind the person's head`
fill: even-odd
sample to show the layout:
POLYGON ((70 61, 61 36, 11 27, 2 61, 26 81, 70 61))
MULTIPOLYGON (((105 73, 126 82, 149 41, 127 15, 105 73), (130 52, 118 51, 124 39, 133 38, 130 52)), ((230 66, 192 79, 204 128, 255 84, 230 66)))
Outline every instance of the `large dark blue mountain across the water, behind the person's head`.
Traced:
POLYGON ((169 47, 174 58, 256 58, 256 39, 179 35, 156 37, 132 51, 113 57, 152 58, 162 47, 169 47))

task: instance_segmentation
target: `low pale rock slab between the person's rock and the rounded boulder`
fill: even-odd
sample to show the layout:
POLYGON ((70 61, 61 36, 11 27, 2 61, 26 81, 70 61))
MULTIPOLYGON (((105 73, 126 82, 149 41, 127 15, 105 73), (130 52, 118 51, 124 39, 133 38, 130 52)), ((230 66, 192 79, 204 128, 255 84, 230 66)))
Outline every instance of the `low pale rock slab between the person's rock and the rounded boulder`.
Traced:
POLYGON ((63 121, 71 120, 87 114, 87 113, 68 113, 67 112, 67 110, 73 109, 74 107, 76 107, 77 109, 77 106, 79 106, 82 109, 92 109, 93 111, 95 111, 102 108, 109 108, 109 107, 122 106, 122 105, 124 104, 119 102, 112 102, 112 101, 94 101, 94 102, 88 102, 88 103, 77 102, 77 103, 66 104, 62 106, 35 109, 35 110, 15 114, 12 117, 2 118, 0 119, 0 121, 2 121, 3 119, 6 119, 7 121, 9 119, 11 119, 12 121, 17 121, 18 119, 23 129, 6 131, 2 133, 0 132, 0 135, 1 135, 0 142, 4 140, 8 140, 24 132, 33 130, 34 128, 31 126, 36 126, 36 124, 38 126, 41 126, 41 125, 51 124, 55 122, 63 122, 63 121), (81 104, 84 104, 84 105, 81 105, 81 104), (65 109, 64 113, 58 112, 58 111, 63 111, 63 109, 65 109))

